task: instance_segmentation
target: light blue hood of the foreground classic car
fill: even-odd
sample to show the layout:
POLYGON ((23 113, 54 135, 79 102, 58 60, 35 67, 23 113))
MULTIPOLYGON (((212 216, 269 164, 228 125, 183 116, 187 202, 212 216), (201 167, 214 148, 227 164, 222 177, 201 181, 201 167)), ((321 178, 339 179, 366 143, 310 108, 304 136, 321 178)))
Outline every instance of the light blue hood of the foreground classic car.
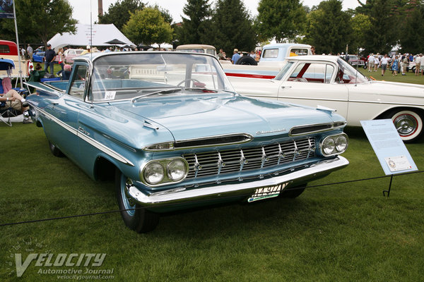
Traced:
POLYGON ((343 120, 329 111, 232 94, 145 98, 114 106, 119 111, 131 113, 128 116, 136 115, 158 128, 167 128, 175 140, 232 133, 284 134, 295 125, 309 125, 311 121, 343 120))

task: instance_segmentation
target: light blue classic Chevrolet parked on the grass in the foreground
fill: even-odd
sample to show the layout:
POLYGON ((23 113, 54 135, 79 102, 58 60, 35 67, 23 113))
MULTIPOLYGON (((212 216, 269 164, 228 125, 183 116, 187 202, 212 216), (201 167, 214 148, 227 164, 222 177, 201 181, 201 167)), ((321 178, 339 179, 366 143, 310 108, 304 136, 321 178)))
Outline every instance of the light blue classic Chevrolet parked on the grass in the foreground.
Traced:
POLYGON ((95 180, 112 176, 137 232, 161 212, 297 197, 348 165, 343 117, 240 96, 208 54, 88 54, 69 81, 28 85, 52 153, 95 180))

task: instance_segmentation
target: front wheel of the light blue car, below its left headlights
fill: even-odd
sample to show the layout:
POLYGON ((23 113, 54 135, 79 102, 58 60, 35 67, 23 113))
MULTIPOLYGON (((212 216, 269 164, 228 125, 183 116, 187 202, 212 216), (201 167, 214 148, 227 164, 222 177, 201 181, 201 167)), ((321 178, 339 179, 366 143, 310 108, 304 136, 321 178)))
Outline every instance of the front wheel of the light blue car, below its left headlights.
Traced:
POLYGON ((159 223, 159 214, 144 209, 126 196, 126 187, 132 180, 117 169, 115 173, 115 190, 121 216, 126 226, 138 233, 153 231, 159 223))

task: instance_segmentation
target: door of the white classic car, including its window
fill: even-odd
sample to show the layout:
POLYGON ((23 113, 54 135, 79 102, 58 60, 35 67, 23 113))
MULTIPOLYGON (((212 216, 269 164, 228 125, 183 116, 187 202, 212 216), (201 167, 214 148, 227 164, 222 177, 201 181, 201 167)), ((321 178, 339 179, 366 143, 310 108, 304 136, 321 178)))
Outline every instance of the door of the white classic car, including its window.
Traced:
POLYGON ((328 61, 298 61, 281 79, 278 99, 295 104, 336 109, 346 118, 348 87, 336 80, 338 67, 328 61))

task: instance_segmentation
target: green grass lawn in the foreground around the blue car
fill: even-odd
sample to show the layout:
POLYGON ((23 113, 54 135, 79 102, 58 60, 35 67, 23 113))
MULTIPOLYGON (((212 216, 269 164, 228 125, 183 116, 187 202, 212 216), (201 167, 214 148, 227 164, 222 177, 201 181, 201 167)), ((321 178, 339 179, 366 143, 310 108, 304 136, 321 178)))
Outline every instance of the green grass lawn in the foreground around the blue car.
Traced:
MULTIPOLYGON (((363 130, 346 132, 351 164, 310 185, 384 176, 363 130)), ((54 157, 42 128, 1 123, 0 136, 0 223, 117 209, 112 183, 54 157)), ((423 142, 407 147, 422 169, 423 142)), ((0 281, 57 281, 35 262, 16 277, 14 254, 45 252, 105 253, 98 269, 113 269, 110 281, 423 281, 423 173, 394 177, 389 198, 388 185, 326 185, 295 200, 171 214, 147 234, 119 213, 1 226, 0 281)))

